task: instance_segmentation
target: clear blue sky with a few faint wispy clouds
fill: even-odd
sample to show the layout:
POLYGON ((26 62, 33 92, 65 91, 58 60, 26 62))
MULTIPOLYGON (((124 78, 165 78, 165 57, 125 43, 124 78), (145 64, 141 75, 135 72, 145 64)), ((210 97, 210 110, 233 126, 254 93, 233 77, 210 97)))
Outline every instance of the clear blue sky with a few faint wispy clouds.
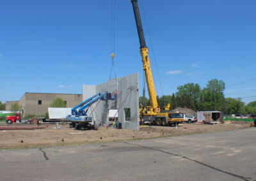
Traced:
MULTIPOLYGON (((114 2, 116 76, 138 72, 142 94, 132 4, 114 2)), ((256 1, 138 4, 159 96, 185 83, 203 88, 217 78, 227 85, 226 97, 256 100, 256 1)), ((19 100, 24 92, 81 94, 83 84, 108 81, 111 6, 112 0, 2 0, 0 101, 19 100)))

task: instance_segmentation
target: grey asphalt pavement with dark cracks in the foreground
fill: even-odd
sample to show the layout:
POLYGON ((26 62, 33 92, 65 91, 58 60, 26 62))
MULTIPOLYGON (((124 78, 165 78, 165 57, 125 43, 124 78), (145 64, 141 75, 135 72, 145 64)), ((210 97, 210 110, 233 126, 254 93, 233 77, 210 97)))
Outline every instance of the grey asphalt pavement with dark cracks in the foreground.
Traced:
POLYGON ((0 180, 256 180, 256 128, 0 150, 0 180))

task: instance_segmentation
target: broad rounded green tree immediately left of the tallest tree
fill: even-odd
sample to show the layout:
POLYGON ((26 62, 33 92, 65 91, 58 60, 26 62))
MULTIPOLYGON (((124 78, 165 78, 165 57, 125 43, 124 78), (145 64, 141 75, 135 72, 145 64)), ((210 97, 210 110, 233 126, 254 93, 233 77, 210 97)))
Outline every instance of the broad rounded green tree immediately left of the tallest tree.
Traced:
POLYGON ((201 88, 198 83, 186 83, 177 87, 175 96, 178 106, 198 110, 201 88))

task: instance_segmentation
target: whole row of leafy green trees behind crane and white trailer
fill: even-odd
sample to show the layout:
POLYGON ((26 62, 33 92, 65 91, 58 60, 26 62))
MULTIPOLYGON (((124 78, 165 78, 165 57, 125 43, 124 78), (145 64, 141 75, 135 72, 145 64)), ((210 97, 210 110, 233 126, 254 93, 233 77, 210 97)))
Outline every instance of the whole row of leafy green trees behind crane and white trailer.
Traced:
MULTIPOLYGON (((225 114, 256 113, 256 101, 245 105, 241 98, 225 98, 225 82, 223 80, 209 80, 206 87, 201 88, 198 83, 186 83, 177 87, 177 92, 171 95, 157 96, 159 106, 171 104, 171 109, 177 107, 190 108, 195 111, 221 111, 225 114)), ((140 97, 142 105, 143 97, 140 97)), ((145 106, 150 106, 149 99, 145 98, 145 106)))

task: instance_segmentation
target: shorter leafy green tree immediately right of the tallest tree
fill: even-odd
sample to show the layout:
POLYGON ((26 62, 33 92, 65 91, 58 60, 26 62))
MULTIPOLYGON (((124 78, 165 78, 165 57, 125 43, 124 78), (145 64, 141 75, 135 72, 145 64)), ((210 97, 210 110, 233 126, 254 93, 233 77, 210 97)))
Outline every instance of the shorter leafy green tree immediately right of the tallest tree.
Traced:
MULTIPOLYGON (((241 113, 241 108, 244 106, 240 98, 225 98, 225 113, 241 113)), ((244 112, 244 111, 243 111, 244 112)))

